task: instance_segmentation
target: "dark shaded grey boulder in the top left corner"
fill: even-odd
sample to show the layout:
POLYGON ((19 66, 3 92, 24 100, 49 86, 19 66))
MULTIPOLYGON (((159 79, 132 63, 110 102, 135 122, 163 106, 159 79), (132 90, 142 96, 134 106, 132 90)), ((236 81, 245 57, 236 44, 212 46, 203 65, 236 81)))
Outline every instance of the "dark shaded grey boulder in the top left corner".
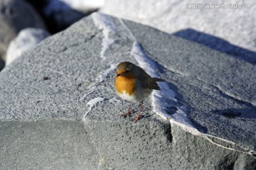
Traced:
POLYGON ((23 28, 46 28, 38 13, 23 0, 0 1, 0 58, 6 60, 9 42, 23 28))

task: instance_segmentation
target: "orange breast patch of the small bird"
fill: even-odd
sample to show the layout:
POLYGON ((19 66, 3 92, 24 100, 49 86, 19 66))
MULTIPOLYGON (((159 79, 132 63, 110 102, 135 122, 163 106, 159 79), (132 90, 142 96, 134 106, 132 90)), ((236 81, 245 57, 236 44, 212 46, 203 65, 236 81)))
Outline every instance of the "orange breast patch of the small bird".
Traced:
POLYGON ((135 79, 129 77, 116 77, 114 86, 119 94, 123 91, 129 95, 133 95, 135 91, 135 79))

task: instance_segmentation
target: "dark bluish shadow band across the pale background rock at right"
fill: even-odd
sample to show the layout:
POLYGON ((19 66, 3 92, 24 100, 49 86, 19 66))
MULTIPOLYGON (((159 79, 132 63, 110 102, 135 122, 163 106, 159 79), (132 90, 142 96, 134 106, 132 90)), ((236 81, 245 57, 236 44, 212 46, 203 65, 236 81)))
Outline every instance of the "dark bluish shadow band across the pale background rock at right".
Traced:
POLYGON ((245 60, 246 62, 256 64, 256 52, 246 50, 245 48, 238 47, 236 45, 232 45, 227 40, 223 40, 213 35, 202 33, 191 28, 180 30, 174 33, 174 35, 184 38, 186 40, 198 42, 201 45, 206 45, 213 50, 224 52, 240 60, 245 60))

